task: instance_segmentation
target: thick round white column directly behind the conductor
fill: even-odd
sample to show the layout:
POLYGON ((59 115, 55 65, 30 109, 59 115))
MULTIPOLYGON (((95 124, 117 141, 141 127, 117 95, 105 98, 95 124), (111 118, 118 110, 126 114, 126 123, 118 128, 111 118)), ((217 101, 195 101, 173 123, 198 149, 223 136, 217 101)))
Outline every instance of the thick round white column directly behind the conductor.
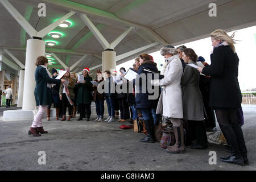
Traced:
POLYGON ((38 56, 44 56, 46 53, 46 43, 43 40, 29 39, 27 40, 26 64, 24 75, 23 90, 23 110, 34 110, 35 103, 35 62, 38 56))

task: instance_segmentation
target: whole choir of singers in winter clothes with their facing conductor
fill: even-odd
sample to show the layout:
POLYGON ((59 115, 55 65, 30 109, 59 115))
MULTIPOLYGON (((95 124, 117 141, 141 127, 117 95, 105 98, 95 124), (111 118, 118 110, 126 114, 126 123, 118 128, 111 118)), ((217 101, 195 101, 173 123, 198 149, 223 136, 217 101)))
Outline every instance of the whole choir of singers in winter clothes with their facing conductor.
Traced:
POLYGON ((92 84, 89 68, 83 71, 83 82, 79 82, 76 76, 72 77, 68 69, 61 80, 56 80, 47 70, 46 57, 38 57, 35 98, 39 111, 28 134, 40 136, 40 133, 47 133, 42 127, 42 117, 47 105, 51 104, 52 96, 54 102, 62 100, 63 119, 61 120, 65 119, 65 109, 69 107, 68 121, 72 118, 75 104, 79 107, 79 120, 82 119, 85 110, 89 120, 92 100, 96 103, 96 121, 102 121, 104 100, 106 100, 109 117, 105 121, 114 121, 116 103, 121 115, 119 122, 125 122, 129 117, 135 120, 139 114, 142 115, 147 135, 140 139, 140 142, 154 142, 154 125, 158 124, 161 115, 169 118, 176 143, 174 146, 169 146, 166 151, 172 154, 184 153, 184 122, 187 123, 192 138, 192 143, 187 147, 206 148, 208 146, 206 131, 216 127, 213 111, 215 110, 217 122, 230 147, 229 152, 232 152, 232 155, 221 160, 233 164, 247 164, 245 140, 241 123, 237 119, 237 109, 241 107, 242 97, 237 79, 239 59, 234 48, 235 42, 233 36, 229 36, 223 30, 212 32, 210 37, 213 46, 210 65, 205 63, 203 57, 198 57, 191 48, 185 46, 175 48, 168 45, 160 49, 160 54, 165 59, 161 71, 158 71, 153 57, 144 53, 135 59, 132 69, 137 72, 137 77, 130 81, 124 78, 125 68, 119 70, 119 75, 117 72, 105 71, 102 74, 101 71, 97 71, 95 81, 98 84, 92 84), (197 61, 203 63, 204 67, 195 68, 197 61), (101 82, 104 82, 104 92, 100 89, 101 82), (56 92, 51 91, 58 86, 56 92), (154 92, 159 92, 156 97, 153 97, 154 92, 148 90, 150 86, 154 92), (121 92, 115 92, 117 87, 121 92))

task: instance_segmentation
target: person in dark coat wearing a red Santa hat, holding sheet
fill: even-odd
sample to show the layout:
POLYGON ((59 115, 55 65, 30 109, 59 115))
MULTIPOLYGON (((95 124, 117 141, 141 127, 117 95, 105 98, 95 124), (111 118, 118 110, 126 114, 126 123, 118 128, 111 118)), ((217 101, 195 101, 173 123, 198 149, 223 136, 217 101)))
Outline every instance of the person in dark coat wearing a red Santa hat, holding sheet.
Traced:
POLYGON ((89 68, 84 68, 82 71, 82 75, 84 76, 84 82, 77 81, 77 104, 80 107, 80 117, 77 121, 82 120, 82 115, 85 115, 86 109, 86 121, 90 120, 90 114, 92 110, 90 105, 92 104, 93 96, 92 96, 92 77, 89 76, 89 68))

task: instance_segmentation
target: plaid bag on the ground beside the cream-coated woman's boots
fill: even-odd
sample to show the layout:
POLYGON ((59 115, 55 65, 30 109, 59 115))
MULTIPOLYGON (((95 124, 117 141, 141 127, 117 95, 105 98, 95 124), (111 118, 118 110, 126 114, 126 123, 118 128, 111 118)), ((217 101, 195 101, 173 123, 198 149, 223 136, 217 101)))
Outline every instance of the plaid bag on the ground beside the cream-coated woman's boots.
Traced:
POLYGON ((163 135, 160 140, 160 147, 167 148, 168 146, 173 146, 175 144, 175 134, 173 129, 164 129, 163 135))

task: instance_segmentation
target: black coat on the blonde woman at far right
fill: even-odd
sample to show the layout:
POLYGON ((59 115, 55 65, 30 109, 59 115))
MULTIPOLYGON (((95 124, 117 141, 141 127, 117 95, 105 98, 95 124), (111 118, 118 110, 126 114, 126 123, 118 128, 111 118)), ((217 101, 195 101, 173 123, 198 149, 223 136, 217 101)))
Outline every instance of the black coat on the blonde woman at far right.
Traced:
POLYGON ((203 69, 204 75, 212 78, 209 106, 221 108, 241 107, 242 94, 238 82, 239 58, 229 46, 220 46, 210 55, 210 67, 203 69))

